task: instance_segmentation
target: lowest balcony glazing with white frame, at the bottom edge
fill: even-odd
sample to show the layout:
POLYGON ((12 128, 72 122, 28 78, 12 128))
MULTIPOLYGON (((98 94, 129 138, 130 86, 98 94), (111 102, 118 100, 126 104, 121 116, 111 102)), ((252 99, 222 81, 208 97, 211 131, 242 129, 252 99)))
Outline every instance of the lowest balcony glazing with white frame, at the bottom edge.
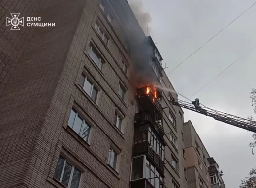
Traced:
POLYGON ((146 159, 146 156, 132 159, 131 181, 146 178, 154 188, 163 188, 163 177, 146 159))

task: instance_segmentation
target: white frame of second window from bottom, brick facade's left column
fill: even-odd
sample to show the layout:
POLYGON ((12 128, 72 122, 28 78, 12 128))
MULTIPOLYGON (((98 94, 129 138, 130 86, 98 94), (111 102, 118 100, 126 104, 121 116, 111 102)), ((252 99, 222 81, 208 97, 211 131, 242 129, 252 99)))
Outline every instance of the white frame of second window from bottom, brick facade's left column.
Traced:
POLYGON ((69 118, 68 118, 68 122, 67 122, 67 126, 69 126, 76 134, 78 134, 85 142, 89 143, 89 138, 90 138, 90 135, 91 135, 91 130, 92 130, 92 126, 91 124, 88 123, 88 121, 85 120, 85 118, 81 115, 81 113, 78 112, 78 110, 76 110, 76 108, 72 107, 71 111, 70 111, 70 114, 69 114, 69 118), (75 113, 75 117, 74 117, 74 120, 73 120, 73 123, 72 123, 72 127, 71 125, 69 125, 69 121, 70 121, 70 118, 71 118, 71 113, 74 112, 75 113), (75 123, 75 120, 76 118, 80 118, 82 119, 82 124, 81 124, 81 128, 80 128, 80 131, 79 133, 77 133, 73 127, 74 127, 74 123, 75 123), (84 128, 84 125, 86 125, 87 127, 89 127, 89 129, 87 130, 87 135, 86 137, 82 137, 82 129, 84 128), (86 139, 85 139, 86 138, 86 139))

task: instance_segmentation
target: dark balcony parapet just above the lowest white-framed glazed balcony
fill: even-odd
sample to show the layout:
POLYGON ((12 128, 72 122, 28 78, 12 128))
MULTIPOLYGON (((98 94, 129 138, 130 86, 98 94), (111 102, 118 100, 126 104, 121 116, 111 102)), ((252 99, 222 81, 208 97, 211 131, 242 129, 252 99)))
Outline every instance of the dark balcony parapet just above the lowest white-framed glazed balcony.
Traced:
POLYGON ((162 175, 164 174, 164 162, 147 141, 134 144, 133 156, 142 154, 146 154, 148 159, 156 166, 159 172, 162 175))

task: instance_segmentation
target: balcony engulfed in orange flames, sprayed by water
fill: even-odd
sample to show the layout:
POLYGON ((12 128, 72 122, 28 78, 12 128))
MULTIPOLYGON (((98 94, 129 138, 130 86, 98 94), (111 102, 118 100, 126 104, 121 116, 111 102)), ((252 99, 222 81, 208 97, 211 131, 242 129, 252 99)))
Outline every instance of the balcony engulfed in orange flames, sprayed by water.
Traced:
POLYGON ((137 89, 137 101, 138 103, 153 115, 162 115, 162 106, 160 104, 161 92, 156 86, 147 86, 137 89), (157 114, 155 113, 157 112, 157 114))

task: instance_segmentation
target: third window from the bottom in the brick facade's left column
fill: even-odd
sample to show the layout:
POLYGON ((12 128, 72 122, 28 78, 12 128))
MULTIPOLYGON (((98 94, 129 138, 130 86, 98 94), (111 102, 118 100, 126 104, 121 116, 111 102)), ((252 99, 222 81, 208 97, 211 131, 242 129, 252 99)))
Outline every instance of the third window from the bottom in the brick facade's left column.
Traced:
POLYGON ((85 92, 94 100, 94 102, 97 101, 98 89, 95 87, 92 81, 90 81, 88 77, 85 76, 84 73, 82 73, 80 76, 79 85, 83 87, 85 92))

